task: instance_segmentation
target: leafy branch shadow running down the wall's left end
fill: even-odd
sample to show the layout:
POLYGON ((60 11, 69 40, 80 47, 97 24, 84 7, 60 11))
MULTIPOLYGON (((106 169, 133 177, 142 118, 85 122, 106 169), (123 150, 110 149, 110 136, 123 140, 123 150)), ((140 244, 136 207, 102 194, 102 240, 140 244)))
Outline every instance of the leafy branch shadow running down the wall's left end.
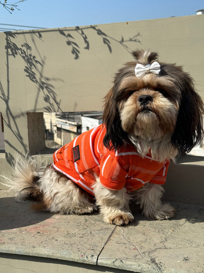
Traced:
MULTIPOLYGON (((40 93, 43 93, 43 99, 46 102, 46 106, 44 107, 44 111, 47 112, 59 112, 62 111, 60 108, 60 101, 57 99, 57 95, 54 91, 54 86, 51 84, 53 80, 61 79, 53 79, 46 77, 43 73, 43 68, 45 66, 45 60, 38 60, 35 55, 32 54, 32 47, 27 43, 23 43, 18 45, 16 42, 16 38, 18 33, 14 32, 4 32, 6 35, 6 67, 7 67, 7 88, 3 88, 0 82, 0 98, 5 104, 5 116, 3 118, 4 125, 10 130, 10 133, 15 136, 17 141, 19 142, 19 147, 21 149, 17 149, 10 141, 5 139, 5 144, 7 144, 10 148, 14 150, 15 153, 19 153, 21 155, 25 155, 29 152, 29 148, 24 142, 20 126, 18 124, 18 119, 25 116, 26 112, 36 112, 37 104, 39 100, 40 93), (20 57, 24 63, 24 73, 28 79, 36 85, 37 91, 35 95, 35 99, 33 101, 33 108, 29 111, 22 112, 20 115, 14 115, 12 111, 12 107, 10 106, 10 75, 9 75, 9 58, 17 58, 20 57), (6 91, 5 91, 6 90, 6 91)), ((42 38, 42 35, 38 34, 39 38, 42 38)), ((6 160, 10 165, 14 163, 14 156, 10 152, 6 152, 6 160)))

